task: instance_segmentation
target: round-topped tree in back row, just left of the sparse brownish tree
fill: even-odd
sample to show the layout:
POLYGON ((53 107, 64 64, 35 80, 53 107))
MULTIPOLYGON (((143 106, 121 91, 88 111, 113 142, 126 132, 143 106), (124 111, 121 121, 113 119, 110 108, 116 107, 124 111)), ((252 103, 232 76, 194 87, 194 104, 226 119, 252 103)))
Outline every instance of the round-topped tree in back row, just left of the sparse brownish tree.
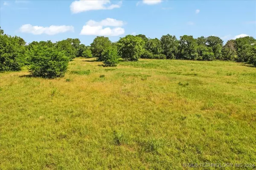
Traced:
POLYGON ((212 48, 214 56, 216 59, 222 59, 221 49, 223 45, 223 40, 216 36, 209 36, 206 40, 207 46, 212 48))

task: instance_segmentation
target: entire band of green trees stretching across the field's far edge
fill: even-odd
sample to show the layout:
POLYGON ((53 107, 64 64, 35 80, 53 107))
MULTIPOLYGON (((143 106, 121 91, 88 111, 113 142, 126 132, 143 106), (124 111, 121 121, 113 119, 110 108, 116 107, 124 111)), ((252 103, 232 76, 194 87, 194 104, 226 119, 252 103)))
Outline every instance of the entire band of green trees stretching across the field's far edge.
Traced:
POLYGON ((223 40, 216 36, 198 37, 183 35, 178 40, 163 35, 160 40, 143 34, 127 35, 117 42, 108 37, 96 37, 90 46, 81 44, 78 38, 58 42, 26 42, 17 36, 4 34, 0 29, 0 71, 20 71, 27 65, 32 76, 62 77, 68 62, 75 57, 96 57, 105 66, 116 66, 119 59, 137 61, 144 59, 230 60, 256 66, 256 39, 241 37, 223 40))

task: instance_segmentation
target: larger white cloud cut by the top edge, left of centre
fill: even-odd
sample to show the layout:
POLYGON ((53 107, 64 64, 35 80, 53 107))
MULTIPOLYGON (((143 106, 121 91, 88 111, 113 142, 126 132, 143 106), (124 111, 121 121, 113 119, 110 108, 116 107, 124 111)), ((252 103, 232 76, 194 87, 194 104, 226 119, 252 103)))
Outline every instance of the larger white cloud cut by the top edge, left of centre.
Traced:
POLYGON ((120 8, 122 1, 117 4, 111 4, 110 0, 76 0, 70 5, 70 10, 76 14, 79 12, 120 8))

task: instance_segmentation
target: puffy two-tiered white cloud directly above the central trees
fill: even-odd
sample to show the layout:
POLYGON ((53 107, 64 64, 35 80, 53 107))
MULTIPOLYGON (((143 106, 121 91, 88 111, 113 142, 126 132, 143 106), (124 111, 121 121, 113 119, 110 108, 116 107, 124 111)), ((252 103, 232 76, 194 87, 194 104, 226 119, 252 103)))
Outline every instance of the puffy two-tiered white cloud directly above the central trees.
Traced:
POLYGON ((100 36, 118 36, 125 33, 125 29, 121 28, 123 26, 123 22, 107 18, 100 22, 96 22, 94 20, 89 20, 85 26, 83 26, 80 35, 100 35, 100 36), (103 28, 103 26, 113 26, 115 28, 103 28))

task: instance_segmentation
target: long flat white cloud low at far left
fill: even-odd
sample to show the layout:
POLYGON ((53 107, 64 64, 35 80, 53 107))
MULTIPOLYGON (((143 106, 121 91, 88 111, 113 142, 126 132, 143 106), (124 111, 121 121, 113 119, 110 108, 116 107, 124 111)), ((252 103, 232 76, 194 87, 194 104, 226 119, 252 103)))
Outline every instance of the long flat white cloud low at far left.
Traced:
POLYGON ((48 35, 55 35, 59 33, 64 33, 67 31, 74 31, 73 26, 32 26, 31 24, 25 24, 20 27, 20 32, 24 33, 31 33, 35 35, 39 34, 48 34, 48 35))

